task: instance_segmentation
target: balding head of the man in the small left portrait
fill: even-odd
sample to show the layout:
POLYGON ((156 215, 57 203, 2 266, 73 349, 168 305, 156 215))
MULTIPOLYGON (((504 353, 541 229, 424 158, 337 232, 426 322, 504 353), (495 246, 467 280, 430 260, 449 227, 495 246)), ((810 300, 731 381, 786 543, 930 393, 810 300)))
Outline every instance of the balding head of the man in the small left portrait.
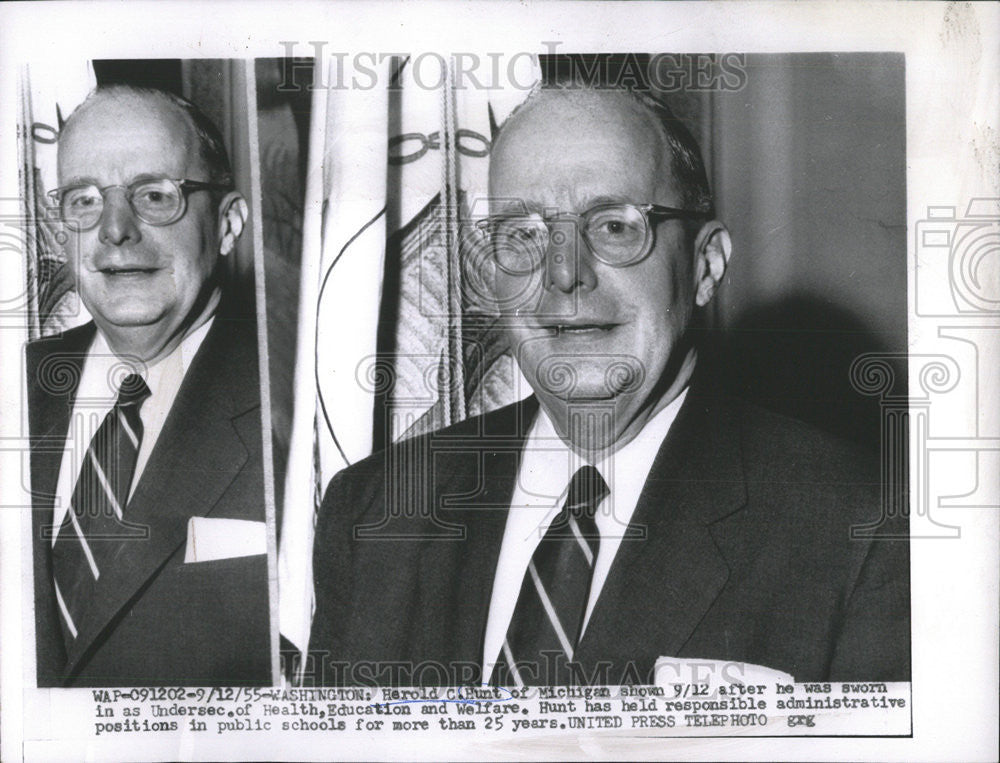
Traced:
POLYGON ((80 298, 116 354, 165 357, 215 311, 219 257, 246 219, 218 132, 167 93, 98 90, 65 125, 58 168, 66 219, 84 219, 78 203, 99 215, 77 226, 80 298), (176 213, 141 214, 162 204, 176 213))

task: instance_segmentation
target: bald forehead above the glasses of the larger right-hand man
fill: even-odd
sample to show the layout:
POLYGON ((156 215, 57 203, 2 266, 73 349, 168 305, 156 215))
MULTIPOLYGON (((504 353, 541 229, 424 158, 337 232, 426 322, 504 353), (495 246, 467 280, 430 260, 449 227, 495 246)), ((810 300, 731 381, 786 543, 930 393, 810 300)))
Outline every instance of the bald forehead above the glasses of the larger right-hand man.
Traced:
POLYGON ((618 92, 538 94, 504 125, 490 162, 490 196, 532 207, 674 204, 674 185, 660 126, 618 92))

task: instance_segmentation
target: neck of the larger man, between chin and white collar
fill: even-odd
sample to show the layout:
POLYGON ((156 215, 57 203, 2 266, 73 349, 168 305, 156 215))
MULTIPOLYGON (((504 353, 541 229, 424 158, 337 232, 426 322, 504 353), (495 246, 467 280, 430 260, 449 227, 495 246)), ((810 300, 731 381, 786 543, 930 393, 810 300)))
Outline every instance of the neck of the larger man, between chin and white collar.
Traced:
POLYGON ((539 404, 552 420, 556 431, 577 455, 596 463, 628 445, 646 426, 646 422, 670 405, 691 381, 698 353, 690 348, 673 381, 663 392, 647 401, 626 420, 621 400, 597 400, 569 403, 538 396, 539 404))

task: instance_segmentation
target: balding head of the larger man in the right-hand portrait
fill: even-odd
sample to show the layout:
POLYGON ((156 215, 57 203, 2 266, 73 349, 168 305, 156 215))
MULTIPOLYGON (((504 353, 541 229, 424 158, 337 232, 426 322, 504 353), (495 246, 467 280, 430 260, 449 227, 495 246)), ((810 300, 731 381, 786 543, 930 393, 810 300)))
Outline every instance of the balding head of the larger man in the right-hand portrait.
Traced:
POLYGON ((490 158, 511 349, 557 430, 589 454, 629 442, 684 389, 688 329, 729 257, 697 146, 664 113, 621 90, 541 89, 490 158))

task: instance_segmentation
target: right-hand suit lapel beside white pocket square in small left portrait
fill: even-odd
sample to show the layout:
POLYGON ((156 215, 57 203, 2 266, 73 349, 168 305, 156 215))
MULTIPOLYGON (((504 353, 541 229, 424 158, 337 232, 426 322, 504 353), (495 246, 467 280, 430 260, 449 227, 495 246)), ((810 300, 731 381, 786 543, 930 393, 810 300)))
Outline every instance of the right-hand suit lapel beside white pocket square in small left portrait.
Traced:
POLYGON ((247 347, 230 330, 227 321, 217 318, 185 374, 126 508, 127 521, 147 528, 148 534, 123 543, 113 566, 98 581, 94 604, 67 658, 67 676, 179 551, 188 520, 212 512, 248 459, 240 432, 245 415, 259 415, 259 398, 248 383, 255 384, 257 378, 256 348, 247 347), (231 378, 220 380, 220 374, 231 378))

